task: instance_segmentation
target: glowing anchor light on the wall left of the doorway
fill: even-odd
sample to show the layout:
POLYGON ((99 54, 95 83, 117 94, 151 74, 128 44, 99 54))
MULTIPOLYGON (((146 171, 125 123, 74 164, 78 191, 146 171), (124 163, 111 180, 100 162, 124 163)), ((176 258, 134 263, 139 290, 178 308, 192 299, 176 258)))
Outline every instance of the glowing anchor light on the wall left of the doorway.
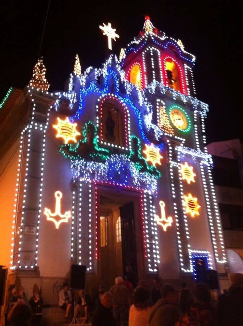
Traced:
POLYGON ((46 207, 44 209, 44 214, 46 215, 47 220, 52 221, 55 224, 56 229, 58 229, 61 223, 68 222, 68 219, 71 217, 71 211, 67 211, 64 214, 61 213, 61 198, 63 197, 61 191, 56 191, 54 196, 56 198, 55 212, 51 213, 50 209, 46 207), (57 216, 59 216, 60 219, 56 220, 55 217, 57 216))

